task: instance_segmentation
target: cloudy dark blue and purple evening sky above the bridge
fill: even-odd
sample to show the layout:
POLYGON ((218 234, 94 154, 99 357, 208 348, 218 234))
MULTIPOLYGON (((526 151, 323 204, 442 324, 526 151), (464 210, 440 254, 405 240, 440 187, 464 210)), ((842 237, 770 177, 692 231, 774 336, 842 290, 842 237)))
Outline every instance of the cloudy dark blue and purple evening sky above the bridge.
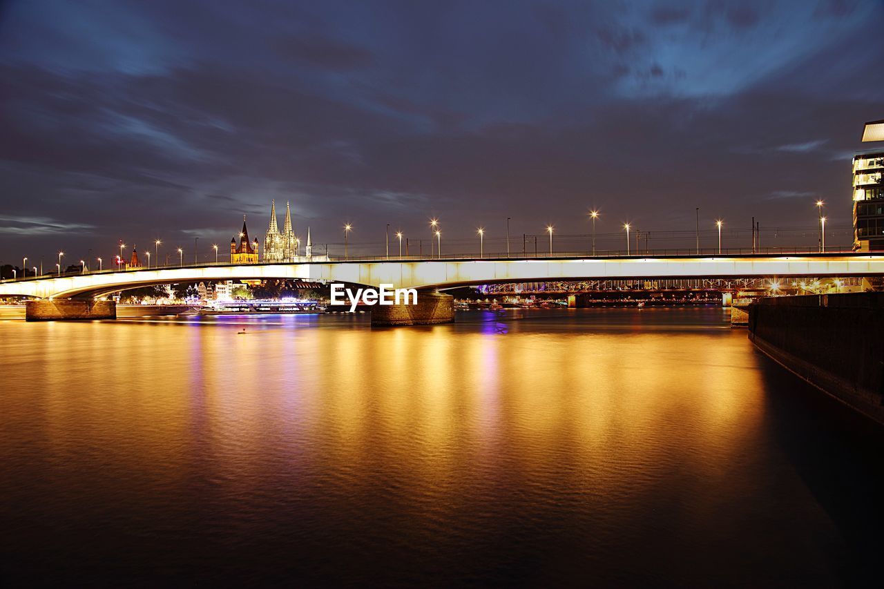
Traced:
POLYGON ((717 218, 726 247, 812 229, 817 199, 849 227, 881 30, 880 0, 7 0, 0 261, 205 257, 272 199, 332 252, 347 222, 426 249, 430 218, 444 249, 505 249, 507 218, 514 250, 567 242, 593 208, 611 248, 626 221, 692 242, 697 207, 710 247, 717 218))

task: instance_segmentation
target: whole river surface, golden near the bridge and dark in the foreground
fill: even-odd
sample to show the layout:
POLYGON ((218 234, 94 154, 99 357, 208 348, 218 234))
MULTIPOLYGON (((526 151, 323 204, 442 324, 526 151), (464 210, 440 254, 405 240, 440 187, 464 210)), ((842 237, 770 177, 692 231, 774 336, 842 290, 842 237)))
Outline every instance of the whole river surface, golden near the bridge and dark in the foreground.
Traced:
POLYGON ((0 358, 6 581, 880 578, 880 432, 720 309, 7 321, 0 358))

